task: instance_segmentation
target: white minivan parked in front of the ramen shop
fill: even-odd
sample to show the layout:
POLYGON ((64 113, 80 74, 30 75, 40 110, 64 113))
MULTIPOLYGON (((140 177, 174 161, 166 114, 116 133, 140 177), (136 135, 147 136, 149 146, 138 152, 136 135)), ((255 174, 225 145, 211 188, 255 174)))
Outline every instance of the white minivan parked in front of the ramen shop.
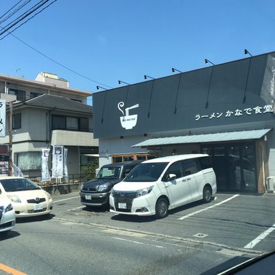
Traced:
POLYGON ((164 218, 168 210, 217 192, 216 175, 206 154, 171 155, 146 160, 115 184, 110 211, 164 218))

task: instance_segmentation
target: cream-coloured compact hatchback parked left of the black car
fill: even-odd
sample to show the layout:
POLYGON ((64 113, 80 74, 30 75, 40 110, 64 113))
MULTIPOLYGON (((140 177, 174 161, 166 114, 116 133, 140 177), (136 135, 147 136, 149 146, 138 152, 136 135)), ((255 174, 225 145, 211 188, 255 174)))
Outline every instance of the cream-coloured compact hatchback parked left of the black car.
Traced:
POLYGON ((0 194, 11 201, 17 218, 52 211, 51 195, 25 177, 0 177, 0 194))

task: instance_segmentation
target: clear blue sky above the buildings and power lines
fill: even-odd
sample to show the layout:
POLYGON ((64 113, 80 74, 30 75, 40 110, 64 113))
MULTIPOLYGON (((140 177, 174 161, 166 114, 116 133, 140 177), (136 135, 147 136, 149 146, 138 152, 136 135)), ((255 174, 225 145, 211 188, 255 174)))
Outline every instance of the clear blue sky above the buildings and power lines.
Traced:
MULTIPOLYGON (((0 14, 17 2, 2 0, 0 14)), ((244 49, 274 51, 274 14, 274 0, 58 0, 12 34, 100 84, 12 35, 0 40, 0 74, 33 80, 52 72, 92 92, 118 80, 140 83, 144 74, 208 66, 204 58, 219 64, 245 58, 244 49)))

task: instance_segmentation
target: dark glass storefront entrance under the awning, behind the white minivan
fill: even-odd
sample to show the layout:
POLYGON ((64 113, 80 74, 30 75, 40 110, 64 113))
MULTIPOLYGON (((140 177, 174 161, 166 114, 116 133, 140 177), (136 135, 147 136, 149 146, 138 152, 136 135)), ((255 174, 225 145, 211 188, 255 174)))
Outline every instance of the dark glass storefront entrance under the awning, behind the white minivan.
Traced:
POLYGON ((254 142, 201 145, 212 157, 219 191, 256 192, 254 142))

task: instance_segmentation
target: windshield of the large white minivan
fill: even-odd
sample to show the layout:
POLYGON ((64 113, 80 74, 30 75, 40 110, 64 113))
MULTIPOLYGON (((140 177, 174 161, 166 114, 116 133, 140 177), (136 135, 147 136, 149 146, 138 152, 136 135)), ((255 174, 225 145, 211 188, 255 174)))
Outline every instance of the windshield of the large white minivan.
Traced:
POLYGON ((124 181, 156 181, 159 179, 168 162, 152 162, 138 164, 124 181))

